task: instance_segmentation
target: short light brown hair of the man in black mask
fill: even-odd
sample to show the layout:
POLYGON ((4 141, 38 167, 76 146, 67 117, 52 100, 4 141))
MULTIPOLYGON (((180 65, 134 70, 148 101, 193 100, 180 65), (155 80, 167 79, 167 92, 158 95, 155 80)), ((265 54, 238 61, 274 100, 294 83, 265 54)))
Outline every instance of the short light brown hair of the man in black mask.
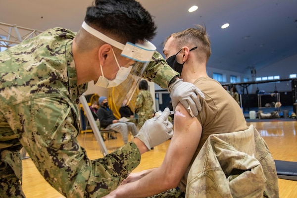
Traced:
POLYGON ((205 60, 209 59, 211 54, 210 40, 208 38, 206 28, 201 25, 196 25, 195 28, 188 28, 181 32, 173 33, 165 40, 164 44, 169 38, 173 37, 177 42, 177 48, 181 49, 184 46, 188 46, 190 49, 197 47, 195 52, 198 59, 205 60))

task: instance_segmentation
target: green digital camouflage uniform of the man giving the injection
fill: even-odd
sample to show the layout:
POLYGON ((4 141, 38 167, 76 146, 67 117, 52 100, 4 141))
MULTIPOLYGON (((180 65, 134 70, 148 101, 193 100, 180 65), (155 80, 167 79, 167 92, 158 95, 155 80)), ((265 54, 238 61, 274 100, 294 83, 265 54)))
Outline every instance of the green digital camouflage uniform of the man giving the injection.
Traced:
MULTIPOLYGON (((140 163, 134 143, 90 160, 77 142, 76 103, 88 84, 77 85, 74 37, 67 29, 49 29, 0 52, 1 197, 24 197, 22 146, 49 184, 71 198, 108 194, 140 163)), ((156 58, 145 74, 161 87, 167 87, 174 76, 156 58)))

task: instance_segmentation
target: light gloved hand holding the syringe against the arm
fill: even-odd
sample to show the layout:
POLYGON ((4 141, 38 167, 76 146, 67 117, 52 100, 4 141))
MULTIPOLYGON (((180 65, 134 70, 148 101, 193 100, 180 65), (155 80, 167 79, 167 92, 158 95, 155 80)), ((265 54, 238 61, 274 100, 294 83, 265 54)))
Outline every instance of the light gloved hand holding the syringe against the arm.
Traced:
POLYGON ((135 136, 150 150, 173 136, 172 124, 168 121, 169 108, 165 108, 159 117, 148 119, 135 136))

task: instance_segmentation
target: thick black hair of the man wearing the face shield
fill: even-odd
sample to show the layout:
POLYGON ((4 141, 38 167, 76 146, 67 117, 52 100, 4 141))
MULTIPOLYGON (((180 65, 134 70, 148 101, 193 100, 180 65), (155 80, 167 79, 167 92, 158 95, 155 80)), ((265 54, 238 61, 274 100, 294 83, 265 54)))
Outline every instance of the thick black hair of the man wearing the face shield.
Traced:
POLYGON ((149 12, 135 0, 95 0, 87 8, 85 22, 122 43, 150 41, 157 29, 149 12))

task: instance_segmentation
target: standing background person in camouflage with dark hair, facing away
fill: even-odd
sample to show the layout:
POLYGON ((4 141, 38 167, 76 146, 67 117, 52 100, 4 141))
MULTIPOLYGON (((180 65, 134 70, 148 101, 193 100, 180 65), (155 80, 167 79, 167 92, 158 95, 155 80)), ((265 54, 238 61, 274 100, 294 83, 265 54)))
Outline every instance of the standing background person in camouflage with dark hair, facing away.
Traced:
POLYGON ((148 82, 146 80, 140 81, 138 88, 140 92, 137 95, 135 112, 138 115, 137 125, 140 129, 148 119, 152 118, 153 100, 148 91, 148 82))

